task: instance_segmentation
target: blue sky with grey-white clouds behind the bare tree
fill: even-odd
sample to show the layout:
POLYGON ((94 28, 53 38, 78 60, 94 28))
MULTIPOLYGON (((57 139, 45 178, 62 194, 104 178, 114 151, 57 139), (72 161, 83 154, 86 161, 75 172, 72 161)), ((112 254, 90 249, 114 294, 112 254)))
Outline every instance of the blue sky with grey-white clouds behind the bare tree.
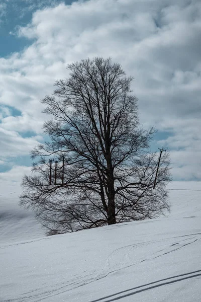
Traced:
MULTIPOLYGON (((40 100, 66 65, 111 56, 134 77, 140 123, 173 180, 201 180, 199 0, 0 0, 0 183, 19 186, 44 141, 40 100)), ((1 193, 0 193, 1 194, 1 193)))

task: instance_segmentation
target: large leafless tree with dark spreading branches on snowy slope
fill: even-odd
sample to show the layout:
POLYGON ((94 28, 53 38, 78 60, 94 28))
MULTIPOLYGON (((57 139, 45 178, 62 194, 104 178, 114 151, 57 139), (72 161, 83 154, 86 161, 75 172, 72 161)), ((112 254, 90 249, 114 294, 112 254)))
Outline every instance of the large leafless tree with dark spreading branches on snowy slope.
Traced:
POLYGON ((34 176, 23 179, 21 205, 31 207, 58 234, 105 224, 156 217, 169 209, 169 155, 163 153, 153 190, 158 155, 155 133, 138 121, 132 78, 111 58, 68 65, 70 76, 56 82, 42 103, 50 141, 32 151, 34 176), (57 185, 49 184, 49 162, 58 161, 57 185), (61 161, 64 161, 64 183, 61 161))

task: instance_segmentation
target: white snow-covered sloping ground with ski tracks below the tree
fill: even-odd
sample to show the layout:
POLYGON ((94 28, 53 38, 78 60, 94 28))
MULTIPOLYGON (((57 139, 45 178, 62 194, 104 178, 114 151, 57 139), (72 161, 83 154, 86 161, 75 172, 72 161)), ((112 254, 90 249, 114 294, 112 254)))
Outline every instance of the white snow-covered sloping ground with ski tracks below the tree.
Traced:
POLYGON ((0 196, 0 301, 200 302, 201 182, 169 188, 167 217, 45 238, 0 196))

